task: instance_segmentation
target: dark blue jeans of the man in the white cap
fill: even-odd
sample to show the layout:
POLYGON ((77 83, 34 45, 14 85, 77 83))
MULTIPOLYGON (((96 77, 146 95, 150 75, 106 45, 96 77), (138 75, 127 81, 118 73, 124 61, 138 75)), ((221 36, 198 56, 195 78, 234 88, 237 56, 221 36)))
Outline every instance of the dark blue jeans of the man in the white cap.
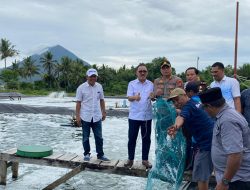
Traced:
POLYGON ((90 128, 92 128, 95 137, 97 158, 100 158, 104 155, 101 120, 97 122, 93 122, 93 119, 91 122, 86 122, 82 120, 82 145, 84 149, 84 156, 90 153, 90 144, 89 144, 90 128))

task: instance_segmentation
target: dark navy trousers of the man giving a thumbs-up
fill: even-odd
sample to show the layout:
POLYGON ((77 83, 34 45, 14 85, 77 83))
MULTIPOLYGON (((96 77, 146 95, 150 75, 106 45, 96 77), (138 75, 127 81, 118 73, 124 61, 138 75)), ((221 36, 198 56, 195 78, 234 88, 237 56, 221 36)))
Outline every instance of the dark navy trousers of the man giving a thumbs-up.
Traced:
POLYGON ((139 121, 139 120, 128 120, 128 159, 134 160, 135 157, 135 146, 136 140, 141 128, 142 136, 142 160, 148 160, 148 154, 151 144, 151 124, 152 120, 139 121))

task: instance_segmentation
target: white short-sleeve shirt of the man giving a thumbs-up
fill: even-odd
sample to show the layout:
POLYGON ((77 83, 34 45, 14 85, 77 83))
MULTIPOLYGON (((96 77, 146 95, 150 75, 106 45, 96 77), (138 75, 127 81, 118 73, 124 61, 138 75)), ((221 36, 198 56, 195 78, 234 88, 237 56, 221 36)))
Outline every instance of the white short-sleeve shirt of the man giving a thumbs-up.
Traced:
POLYGON ((127 96, 135 96, 140 93, 140 101, 130 102, 129 119, 146 121, 152 119, 152 104, 149 98, 154 91, 154 85, 146 80, 141 83, 138 79, 130 81, 128 84, 127 96))

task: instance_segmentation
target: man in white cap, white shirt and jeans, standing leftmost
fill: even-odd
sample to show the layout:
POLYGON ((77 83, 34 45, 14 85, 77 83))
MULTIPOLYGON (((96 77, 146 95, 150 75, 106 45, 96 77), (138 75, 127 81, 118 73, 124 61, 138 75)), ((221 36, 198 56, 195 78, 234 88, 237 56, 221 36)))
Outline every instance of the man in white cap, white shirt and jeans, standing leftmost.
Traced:
POLYGON ((76 91, 76 122, 82 126, 84 161, 90 160, 90 128, 95 137, 97 158, 109 161, 103 152, 102 121, 106 118, 103 88, 96 82, 98 73, 95 69, 89 69, 86 75, 87 81, 76 91))

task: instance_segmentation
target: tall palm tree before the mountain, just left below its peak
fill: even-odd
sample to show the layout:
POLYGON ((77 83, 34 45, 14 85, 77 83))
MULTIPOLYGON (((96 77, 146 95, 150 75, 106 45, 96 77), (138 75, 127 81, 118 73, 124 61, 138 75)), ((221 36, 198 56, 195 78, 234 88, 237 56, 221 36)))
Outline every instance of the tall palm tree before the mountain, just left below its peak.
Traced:
POLYGON ((53 71, 57 61, 53 60, 53 54, 48 51, 40 58, 40 62, 43 64, 44 69, 47 70, 47 80, 49 81, 49 87, 51 88, 51 82, 55 78, 53 71))

